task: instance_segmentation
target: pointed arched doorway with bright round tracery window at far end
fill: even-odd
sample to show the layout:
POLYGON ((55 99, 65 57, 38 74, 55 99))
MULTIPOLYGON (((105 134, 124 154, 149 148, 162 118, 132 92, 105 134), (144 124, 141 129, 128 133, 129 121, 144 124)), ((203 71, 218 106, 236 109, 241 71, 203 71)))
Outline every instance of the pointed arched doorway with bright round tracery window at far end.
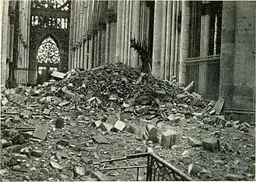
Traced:
POLYGON ((60 52, 57 43, 50 36, 43 40, 37 50, 37 83, 50 79, 52 71, 57 71, 60 63, 60 52))

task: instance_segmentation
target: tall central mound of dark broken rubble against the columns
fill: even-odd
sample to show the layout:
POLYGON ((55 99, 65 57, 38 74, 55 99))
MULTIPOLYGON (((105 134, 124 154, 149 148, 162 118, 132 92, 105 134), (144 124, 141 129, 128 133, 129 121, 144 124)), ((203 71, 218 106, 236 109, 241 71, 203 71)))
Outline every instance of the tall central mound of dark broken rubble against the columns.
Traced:
POLYGON ((183 91, 178 83, 156 80, 125 64, 107 64, 91 71, 70 71, 64 80, 52 83, 57 89, 43 86, 49 96, 66 96, 74 102, 93 101, 104 106, 127 108, 131 105, 158 105, 160 102, 192 104, 200 99, 183 91), (48 90, 49 91, 49 90, 48 90), (181 95, 182 94, 182 95, 181 95), (77 96, 77 99, 72 99, 77 96), (80 96, 80 98, 78 97, 80 96))

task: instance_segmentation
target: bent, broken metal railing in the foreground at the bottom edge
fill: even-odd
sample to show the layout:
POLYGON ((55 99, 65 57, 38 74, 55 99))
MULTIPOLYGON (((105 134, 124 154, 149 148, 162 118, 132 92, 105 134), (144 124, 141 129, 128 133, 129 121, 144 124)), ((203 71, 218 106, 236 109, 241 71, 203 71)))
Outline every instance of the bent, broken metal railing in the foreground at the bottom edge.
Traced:
MULTIPOLYGON (((157 180, 192 180, 182 171, 170 165, 168 162, 164 161, 163 158, 160 158, 158 155, 152 152, 138 153, 134 155, 127 155, 124 158, 114 158, 106 161, 100 162, 110 163, 120 162, 129 160, 131 158, 147 158, 147 165, 133 165, 133 166, 124 166, 124 167, 115 167, 115 168, 100 168, 99 171, 112 171, 112 170, 126 170, 126 169, 136 169, 136 180, 139 180, 139 173, 141 170, 146 170, 146 180, 147 181, 157 181, 157 180)), ((105 165, 104 165, 105 166, 105 165)), ((133 175, 134 176, 134 175, 133 175)))

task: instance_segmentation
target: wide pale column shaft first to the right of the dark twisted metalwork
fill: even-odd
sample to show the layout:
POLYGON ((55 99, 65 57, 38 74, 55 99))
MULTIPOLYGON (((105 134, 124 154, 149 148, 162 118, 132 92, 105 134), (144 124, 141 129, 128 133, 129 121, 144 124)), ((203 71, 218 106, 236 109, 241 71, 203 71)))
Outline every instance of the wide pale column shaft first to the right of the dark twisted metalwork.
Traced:
POLYGON ((153 26, 153 62, 152 74, 156 79, 160 79, 160 56, 162 42, 162 11, 163 2, 155 2, 154 26, 153 26))

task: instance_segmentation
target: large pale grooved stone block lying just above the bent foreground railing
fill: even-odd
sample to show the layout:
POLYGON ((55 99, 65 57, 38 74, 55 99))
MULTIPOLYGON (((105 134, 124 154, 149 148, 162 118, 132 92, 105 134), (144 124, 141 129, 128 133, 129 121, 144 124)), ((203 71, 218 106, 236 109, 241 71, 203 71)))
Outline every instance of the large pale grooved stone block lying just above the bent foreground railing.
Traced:
POLYGON ((172 145, 179 145, 181 134, 175 130, 166 130, 162 133, 161 146, 170 148, 172 145))

